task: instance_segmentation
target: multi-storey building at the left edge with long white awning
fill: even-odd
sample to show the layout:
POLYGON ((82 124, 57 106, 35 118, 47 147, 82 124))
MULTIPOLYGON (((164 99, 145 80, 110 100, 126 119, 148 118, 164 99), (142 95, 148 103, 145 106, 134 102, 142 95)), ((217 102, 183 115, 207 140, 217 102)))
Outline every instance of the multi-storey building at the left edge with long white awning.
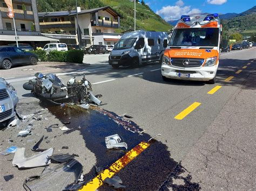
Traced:
MULTIPOLYGON (((12 5, 19 43, 29 43, 36 47, 58 41, 41 35, 36 0, 12 0, 12 5)), ((16 42, 14 22, 7 13, 7 5, 0 0, 0 45, 16 42)))

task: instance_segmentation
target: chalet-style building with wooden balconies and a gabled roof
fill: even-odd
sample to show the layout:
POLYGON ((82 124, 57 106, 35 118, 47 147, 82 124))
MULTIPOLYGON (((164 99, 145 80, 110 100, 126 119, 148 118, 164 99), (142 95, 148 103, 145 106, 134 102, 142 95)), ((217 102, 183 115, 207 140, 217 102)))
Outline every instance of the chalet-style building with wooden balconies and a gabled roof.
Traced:
MULTIPOLYGON (((76 11, 39 12, 38 16, 44 36, 57 38, 61 43, 76 44, 76 11)), ((120 27, 120 18, 110 6, 78 12, 81 46, 115 44, 123 35, 115 33, 120 27)))

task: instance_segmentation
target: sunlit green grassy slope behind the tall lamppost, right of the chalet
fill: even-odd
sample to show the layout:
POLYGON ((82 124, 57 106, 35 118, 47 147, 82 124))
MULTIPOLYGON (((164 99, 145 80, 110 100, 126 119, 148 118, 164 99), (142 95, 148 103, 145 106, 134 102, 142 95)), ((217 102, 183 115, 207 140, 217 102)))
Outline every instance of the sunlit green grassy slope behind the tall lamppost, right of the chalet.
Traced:
MULTIPOLYGON (((121 29, 116 32, 122 32, 134 27, 134 3, 129 0, 100 0, 105 5, 111 6, 119 12, 121 19, 121 29)), ((136 4, 136 29, 147 31, 168 31, 172 26, 157 16, 152 10, 142 4, 136 4)))

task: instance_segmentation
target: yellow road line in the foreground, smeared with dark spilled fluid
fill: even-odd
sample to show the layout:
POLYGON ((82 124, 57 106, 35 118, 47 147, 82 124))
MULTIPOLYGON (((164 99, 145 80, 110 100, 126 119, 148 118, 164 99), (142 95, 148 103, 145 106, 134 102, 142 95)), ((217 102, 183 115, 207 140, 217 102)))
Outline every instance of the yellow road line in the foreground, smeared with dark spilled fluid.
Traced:
POLYGON ((142 142, 138 144, 136 147, 132 148, 131 151, 127 152, 122 158, 114 162, 108 169, 105 169, 102 173, 97 175, 94 179, 88 182, 83 188, 80 190, 96 190, 98 187, 103 185, 103 181, 106 178, 111 178, 114 174, 120 171, 123 167, 125 167, 129 162, 135 159, 140 153, 142 153, 150 144, 146 142, 142 142))

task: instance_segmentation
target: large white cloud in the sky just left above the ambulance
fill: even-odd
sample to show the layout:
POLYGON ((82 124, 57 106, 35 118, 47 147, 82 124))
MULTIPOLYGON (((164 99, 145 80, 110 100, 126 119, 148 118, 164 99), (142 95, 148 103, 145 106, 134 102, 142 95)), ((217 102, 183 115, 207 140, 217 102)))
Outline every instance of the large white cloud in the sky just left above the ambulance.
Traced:
POLYGON ((163 17, 166 21, 177 20, 181 15, 192 15, 201 13, 200 9, 191 9, 191 6, 184 6, 183 1, 179 0, 174 6, 163 6, 162 9, 156 12, 163 17))

